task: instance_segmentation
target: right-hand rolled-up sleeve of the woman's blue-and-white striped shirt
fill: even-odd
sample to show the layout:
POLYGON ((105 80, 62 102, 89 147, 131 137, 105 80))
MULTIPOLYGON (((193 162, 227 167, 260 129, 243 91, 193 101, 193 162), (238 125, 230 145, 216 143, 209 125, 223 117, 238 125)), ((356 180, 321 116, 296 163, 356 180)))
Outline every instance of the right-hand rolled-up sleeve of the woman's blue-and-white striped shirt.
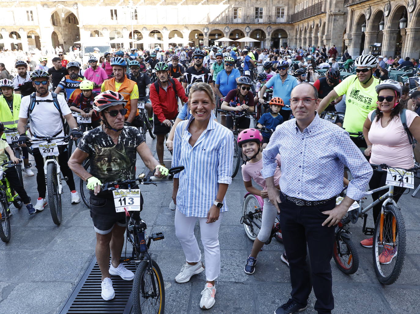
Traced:
POLYGON ((217 167, 217 182, 231 184, 234 159, 234 135, 228 132, 223 137, 218 149, 219 165, 217 167))

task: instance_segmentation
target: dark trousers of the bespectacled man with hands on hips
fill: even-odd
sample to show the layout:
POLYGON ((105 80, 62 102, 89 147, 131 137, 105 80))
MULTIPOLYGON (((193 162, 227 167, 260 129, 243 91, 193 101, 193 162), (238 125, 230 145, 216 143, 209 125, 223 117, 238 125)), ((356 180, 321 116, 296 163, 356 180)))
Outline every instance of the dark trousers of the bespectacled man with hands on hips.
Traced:
POLYGON ((280 224, 284 249, 290 266, 291 298, 301 305, 314 289, 318 313, 331 313, 334 308, 330 261, 333 257, 335 227, 322 226, 328 217, 322 212, 332 210, 335 200, 318 206, 298 206, 280 193, 280 224), (309 249, 312 273, 306 262, 309 249), (312 278, 311 278, 312 277, 312 278))

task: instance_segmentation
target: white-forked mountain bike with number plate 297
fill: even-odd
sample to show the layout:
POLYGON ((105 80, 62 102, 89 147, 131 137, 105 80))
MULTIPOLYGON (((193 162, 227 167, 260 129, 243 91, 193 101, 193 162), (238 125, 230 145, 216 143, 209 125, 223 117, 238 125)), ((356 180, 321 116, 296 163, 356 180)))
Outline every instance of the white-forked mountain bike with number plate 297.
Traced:
MULTIPOLYGON (((41 153, 42 158, 44 159, 45 183, 47 185, 48 205, 50 206, 51 217, 56 225, 60 225, 62 218, 61 194, 63 193, 63 185, 61 184, 62 178, 60 174, 60 165, 58 163, 58 145, 57 142, 53 142, 53 140, 68 142, 70 136, 29 140, 29 145, 34 142, 46 142, 38 144, 39 153, 41 153)), ((26 145, 28 145, 28 142, 26 145)), ((67 177, 64 177, 63 179, 67 181, 67 177)))

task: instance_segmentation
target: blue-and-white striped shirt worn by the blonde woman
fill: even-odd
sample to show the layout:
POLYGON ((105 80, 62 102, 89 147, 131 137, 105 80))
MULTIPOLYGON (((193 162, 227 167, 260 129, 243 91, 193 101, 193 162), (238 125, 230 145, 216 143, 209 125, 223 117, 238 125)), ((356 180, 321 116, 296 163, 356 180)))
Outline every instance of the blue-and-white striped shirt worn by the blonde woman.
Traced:
MULTIPOLYGON (((187 217, 207 217, 217 196, 219 183, 231 184, 234 135, 228 128, 209 120, 194 147, 188 143, 188 127, 194 117, 179 122, 173 138, 172 167, 185 169, 179 178, 176 209, 187 217)), ((220 212, 228 210, 223 199, 220 212)))

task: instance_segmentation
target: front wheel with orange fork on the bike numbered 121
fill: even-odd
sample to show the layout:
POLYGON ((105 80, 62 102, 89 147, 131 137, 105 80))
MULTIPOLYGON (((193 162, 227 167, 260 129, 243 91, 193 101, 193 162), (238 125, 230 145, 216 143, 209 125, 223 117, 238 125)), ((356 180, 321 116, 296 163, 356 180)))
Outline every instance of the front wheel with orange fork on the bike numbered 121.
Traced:
POLYGON ((401 210, 385 206, 373 233, 373 265, 379 282, 391 285, 401 273, 405 258, 405 224, 401 210))

